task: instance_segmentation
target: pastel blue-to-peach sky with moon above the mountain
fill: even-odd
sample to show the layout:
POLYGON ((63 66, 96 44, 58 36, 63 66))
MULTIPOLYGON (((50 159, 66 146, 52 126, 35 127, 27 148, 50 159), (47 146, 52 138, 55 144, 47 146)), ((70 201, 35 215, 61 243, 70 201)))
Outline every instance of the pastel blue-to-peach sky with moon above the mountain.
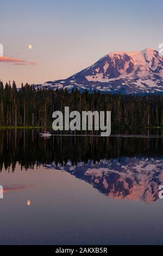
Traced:
POLYGON ((5 0, 0 8, 0 80, 17 87, 67 78, 110 52, 163 43, 162 0, 5 0))

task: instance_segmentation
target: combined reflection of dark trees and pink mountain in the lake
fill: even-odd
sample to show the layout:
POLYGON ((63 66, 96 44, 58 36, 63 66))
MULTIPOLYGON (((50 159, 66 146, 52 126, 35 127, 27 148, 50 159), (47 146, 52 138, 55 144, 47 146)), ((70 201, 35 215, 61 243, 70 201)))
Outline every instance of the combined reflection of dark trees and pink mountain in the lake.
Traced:
POLYGON ((156 137, 44 139, 38 130, 0 130, 0 173, 14 173, 17 163, 26 170, 46 164, 89 182, 109 198, 152 202, 163 182, 162 145, 163 138, 156 137))

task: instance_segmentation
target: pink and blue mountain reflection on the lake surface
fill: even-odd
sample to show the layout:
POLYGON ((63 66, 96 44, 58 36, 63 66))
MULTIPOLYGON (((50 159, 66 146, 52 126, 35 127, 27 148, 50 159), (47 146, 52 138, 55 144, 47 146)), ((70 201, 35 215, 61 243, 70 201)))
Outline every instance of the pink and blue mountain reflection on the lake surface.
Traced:
POLYGON ((78 179, 89 182, 109 198, 144 200, 158 199, 158 188, 163 182, 162 159, 129 158, 101 160, 93 164, 79 163, 65 167, 49 164, 47 168, 66 170, 78 179))

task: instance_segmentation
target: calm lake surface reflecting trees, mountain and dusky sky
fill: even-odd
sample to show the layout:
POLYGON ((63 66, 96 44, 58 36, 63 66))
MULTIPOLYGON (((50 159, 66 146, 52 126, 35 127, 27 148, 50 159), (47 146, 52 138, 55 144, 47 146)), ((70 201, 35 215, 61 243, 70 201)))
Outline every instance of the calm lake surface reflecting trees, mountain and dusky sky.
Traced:
POLYGON ((38 134, 0 130, 1 245, 163 244, 163 138, 38 134))

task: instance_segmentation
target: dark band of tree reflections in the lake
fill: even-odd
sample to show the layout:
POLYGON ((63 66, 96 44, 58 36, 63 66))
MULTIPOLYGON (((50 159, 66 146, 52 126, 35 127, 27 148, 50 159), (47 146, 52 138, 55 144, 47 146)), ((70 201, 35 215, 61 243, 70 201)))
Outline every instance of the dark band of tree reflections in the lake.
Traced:
POLYGON ((0 169, 14 171, 16 162, 28 169, 41 164, 72 165, 89 160, 161 157, 162 138, 64 137, 40 138, 38 130, 0 130, 0 169))

